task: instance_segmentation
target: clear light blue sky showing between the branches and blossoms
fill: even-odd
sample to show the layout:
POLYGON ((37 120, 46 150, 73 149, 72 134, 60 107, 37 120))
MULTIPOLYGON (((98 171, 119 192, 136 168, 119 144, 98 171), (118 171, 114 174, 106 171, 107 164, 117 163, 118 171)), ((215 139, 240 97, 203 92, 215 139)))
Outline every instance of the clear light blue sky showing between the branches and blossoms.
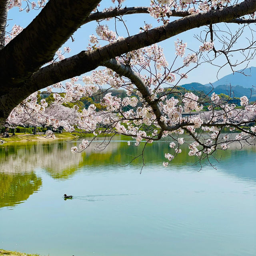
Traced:
MULTIPOLYGON (((150 0, 126 0, 123 4, 123 6, 131 7, 131 6, 149 6, 150 0)), ((25 5, 24 5, 25 6, 25 5)), ((101 5, 99 7, 99 10, 102 10, 105 7, 114 6, 111 0, 102 0, 101 5)), ((7 31, 11 30, 12 26, 14 24, 19 24, 22 27, 26 27, 32 19, 38 14, 38 11, 31 10, 29 13, 26 13, 26 11, 19 12, 18 8, 12 8, 12 10, 8 13, 8 28, 7 31)), ((174 20, 174 18, 170 18, 170 20, 174 20)), ((124 20, 127 21, 126 24, 128 26, 130 35, 137 34, 139 32, 139 28, 144 26, 144 22, 150 23, 153 25, 153 27, 160 26, 162 23, 158 23, 156 19, 152 18, 149 14, 132 14, 132 15, 126 15, 124 16, 124 20)), ((110 21, 104 21, 103 24, 108 24, 111 30, 114 30, 114 19, 111 19, 110 21)), ((69 46, 71 48, 70 54, 65 54, 66 57, 72 56, 74 54, 77 54, 78 52, 82 50, 86 50, 86 47, 88 46, 88 38, 90 34, 96 34, 95 28, 96 28, 96 22, 90 22, 89 24, 85 24, 82 26, 78 31, 74 33, 74 42, 71 42, 71 40, 68 40, 64 46, 69 46)), ((236 31, 239 27, 238 24, 228 24, 228 29, 236 31)), ((252 26, 255 25, 253 24, 252 26)), ((124 25, 121 24, 121 22, 117 22, 117 28, 119 36, 127 36, 127 32, 124 28, 124 25)), ((166 59, 169 63, 172 63, 172 60, 175 58, 175 48, 174 48, 174 41, 179 38, 183 42, 187 42, 188 48, 198 51, 199 46, 201 43, 194 38, 194 35, 200 34, 202 30, 204 30, 205 27, 202 28, 196 28, 193 30, 189 30, 186 32, 183 32, 182 34, 179 34, 178 36, 175 36, 174 38, 169 38, 168 40, 165 40, 163 42, 160 42, 159 45, 164 48, 164 54, 166 55, 166 59)), ((224 24, 220 25, 221 30, 227 30, 227 27, 224 24)), ((224 34, 223 34, 224 35, 224 34)), ((249 31, 245 31, 243 35, 240 37, 238 42, 236 43, 236 48, 244 47, 244 44, 246 42, 246 38, 250 37, 251 34, 249 31)), ((101 43, 102 45, 104 42, 101 43)), ((186 54, 188 54, 190 51, 187 50, 186 54)), ((24 53, 26 54, 26 53, 24 53)), ((186 55, 185 54, 185 55, 186 55)), ((212 56, 212 54, 210 54, 212 56)), ((233 60, 241 61, 241 56, 234 55, 233 60)), ((218 59, 216 62, 217 64, 220 64, 224 61, 224 58, 218 59)), ((182 62, 182 59, 180 59, 180 63, 182 62)), ((242 64, 238 67, 236 67, 236 70, 240 70, 244 68, 246 64, 242 64)), ((253 60, 248 65, 250 66, 256 66, 256 61, 253 60)), ((202 84, 207 84, 209 82, 215 82, 217 80, 216 74, 218 72, 218 68, 215 66, 212 66, 210 64, 202 64, 200 67, 196 68, 195 70, 192 70, 188 74, 188 79, 182 80, 180 84, 190 83, 190 82, 200 82, 202 84)), ((228 66, 225 66, 221 72, 218 75, 218 78, 222 78, 223 76, 232 73, 231 69, 228 66)))

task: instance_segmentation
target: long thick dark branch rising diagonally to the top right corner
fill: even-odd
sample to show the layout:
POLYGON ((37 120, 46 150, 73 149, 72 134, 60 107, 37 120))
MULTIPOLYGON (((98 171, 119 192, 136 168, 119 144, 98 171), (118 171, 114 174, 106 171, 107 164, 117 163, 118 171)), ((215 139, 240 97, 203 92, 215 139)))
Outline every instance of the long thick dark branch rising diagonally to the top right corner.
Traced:
POLYGON ((150 46, 192 28, 211 23, 227 22, 235 17, 250 14, 255 10, 256 1, 245 0, 222 10, 212 10, 180 18, 169 24, 112 42, 102 48, 82 51, 70 58, 41 68, 26 82, 26 87, 30 88, 32 93, 51 84, 94 70, 100 62, 110 60, 126 52, 150 46))

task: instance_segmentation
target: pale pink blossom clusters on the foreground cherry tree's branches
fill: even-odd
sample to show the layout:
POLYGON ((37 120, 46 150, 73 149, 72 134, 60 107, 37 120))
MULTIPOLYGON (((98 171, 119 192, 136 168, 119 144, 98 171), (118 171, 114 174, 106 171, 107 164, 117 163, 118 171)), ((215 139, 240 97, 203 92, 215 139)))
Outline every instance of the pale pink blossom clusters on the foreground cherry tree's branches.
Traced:
MULTIPOLYGON (((8 8, 18 7, 22 10, 23 2, 28 3, 27 11, 43 8, 46 4, 46 0, 31 3, 10 0, 8 8)), ((104 8, 103 12, 119 10, 123 2, 112 0, 117 6, 104 8)), ((167 24, 169 19, 174 19, 172 14, 176 12, 196 15, 225 8, 229 4, 229 0, 151 0, 148 12, 158 22, 167 24)), ((98 12, 98 7, 94 12, 98 12)), ((122 41, 124 34, 119 33, 118 28, 111 27, 108 20, 97 21, 94 34, 87 39, 89 53, 100 49, 101 42, 105 45, 122 41)), ((152 27, 151 23, 144 22, 138 24, 136 29, 146 34, 152 27)), ((6 35, 5 44, 22 29, 14 25, 10 34, 6 35)), ((203 52, 214 56, 214 51, 211 51, 217 47, 217 44, 214 46, 214 40, 216 38, 212 38, 208 30, 206 37, 200 40, 202 45, 190 50, 189 42, 177 39, 168 49, 175 52, 175 60, 170 65, 159 44, 126 52, 112 60, 102 60, 100 65, 103 68, 48 86, 45 94, 52 97, 53 102, 50 104, 45 99, 39 99, 40 93, 30 95, 12 110, 6 126, 29 124, 49 126, 56 130, 62 127, 66 131, 76 128, 81 136, 92 136, 92 139, 83 139, 78 147, 72 147, 72 153, 85 150, 99 134, 125 135, 129 138, 128 146, 132 139, 132 146, 139 146, 144 142, 148 144, 161 138, 171 138, 168 141, 170 153, 164 155, 169 162, 163 162, 164 167, 181 152, 182 144, 188 146, 189 156, 200 159, 208 157, 217 149, 228 150, 232 141, 254 144, 256 104, 251 104, 246 96, 240 98, 238 106, 223 102, 215 93, 202 97, 193 92, 177 90, 180 80, 188 78, 189 66, 194 64, 194 68, 202 63, 200 58, 204 58, 203 52), (123 91, 117 95, 118 90, 123 91), (90 103, 78 106, 86 100, 90 103), (227 134, 222 133, 225 128, 227 134), (190 140, 182 137, 184 133, 190 140)), ((51 63, 64 60, 64 55, 69 54, 70 50, 69 46, 57 50, 51 63)), ((46 136, 54 138, 54 132, 47 130, 46 136)))

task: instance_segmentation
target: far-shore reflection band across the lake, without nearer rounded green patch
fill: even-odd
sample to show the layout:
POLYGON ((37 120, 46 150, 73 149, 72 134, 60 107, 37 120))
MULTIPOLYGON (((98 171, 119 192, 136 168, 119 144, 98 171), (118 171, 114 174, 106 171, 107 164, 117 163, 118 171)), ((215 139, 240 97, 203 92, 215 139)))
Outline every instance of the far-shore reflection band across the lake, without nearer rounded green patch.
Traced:
MULTIPOLYGON (((92 143, 90 148, 80 154, 72 154, 70 151, 70 148, 74 145, 78 146, 79 142, 48 141, 3 145, 0 148, 0 172, 26 173, 40 168, 46 170, 52 178, 61 180, 70 178, 84 166, 86 166, 86 172, 95 171, 95 168, 97 168, 97 172, 115 171, 115 166, 129 164, 135 156, 141 153, 144 146, 144 143, 139 147, 133 146, 133 143, 128 146, 126 142, 120 140, 122 137, 116 139, 119 140, 108 144, 103 151, 97 150, 96 146, 101 143, 98 141, 92 143)), ((217 164, 217 167, 225 166, 222 169, 228 173, 256 180, 256 172, 253 169, 256 164, 255 158, 248 158, 254 162, 243 168, 243 172, 240 172, 239 167, 248 164, 247 156, 255 154, 256 147, 245 147, 243 150, 237 150, 238 146, 234 143, 229 150, 216 152, 215 157, 220 160, 220 164, 214 159, 212 159, 212 164, 217 164), (227 162, 230 164, 230 168, 226 168, 227 162)), ((166 169, 173 170, 178 166, 180 170, 186 170, 186 166, 192 166, 198 159, 188 156, 188 151, 188 146, 182 145, 182 153, 166 169)), ((146 166, 152 166, 152 168, 154 168, 154 164, 161 166, 162 162, 166 161, 164 154, 167 152, 173 154, 168 142, 160 141, 148 144, 144 151, 146 166)), ((135 159, 131 165, 141 167, 142 159, 135 159)), ((194 169, 200 170, 200 166, 194 169)))

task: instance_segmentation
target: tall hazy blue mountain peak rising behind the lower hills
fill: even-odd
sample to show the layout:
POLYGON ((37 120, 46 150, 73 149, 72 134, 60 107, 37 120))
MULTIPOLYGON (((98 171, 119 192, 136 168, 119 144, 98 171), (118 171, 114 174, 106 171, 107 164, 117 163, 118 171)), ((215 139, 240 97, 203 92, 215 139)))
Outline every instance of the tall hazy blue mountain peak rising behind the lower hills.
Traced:
MULTIPOLYGON (((245 75, 237 72, 229 74, 220 78, 220 80, 213 82, 213 87, 215 88, 223 84, 231 84, 231 86, 240 85, 245 88, 252 88, 252 86, 256 86, 256 67, 246 68, 245 70, 239 70, 238 72, 243 72, 245 75)), ((209 86, 210 84, 205 85, 209 86)))

